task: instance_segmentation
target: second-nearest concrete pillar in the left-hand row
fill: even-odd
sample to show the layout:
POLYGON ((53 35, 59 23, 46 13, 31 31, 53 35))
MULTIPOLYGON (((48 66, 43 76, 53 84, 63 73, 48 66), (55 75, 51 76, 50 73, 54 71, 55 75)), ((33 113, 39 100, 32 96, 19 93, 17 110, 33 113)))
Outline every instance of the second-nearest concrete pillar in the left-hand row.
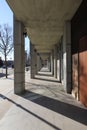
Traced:
POLYGON ((31 54, 31 79, 35 76, 35 51, 34 51, 34 45, 30 43, 30 54, 31 54))

